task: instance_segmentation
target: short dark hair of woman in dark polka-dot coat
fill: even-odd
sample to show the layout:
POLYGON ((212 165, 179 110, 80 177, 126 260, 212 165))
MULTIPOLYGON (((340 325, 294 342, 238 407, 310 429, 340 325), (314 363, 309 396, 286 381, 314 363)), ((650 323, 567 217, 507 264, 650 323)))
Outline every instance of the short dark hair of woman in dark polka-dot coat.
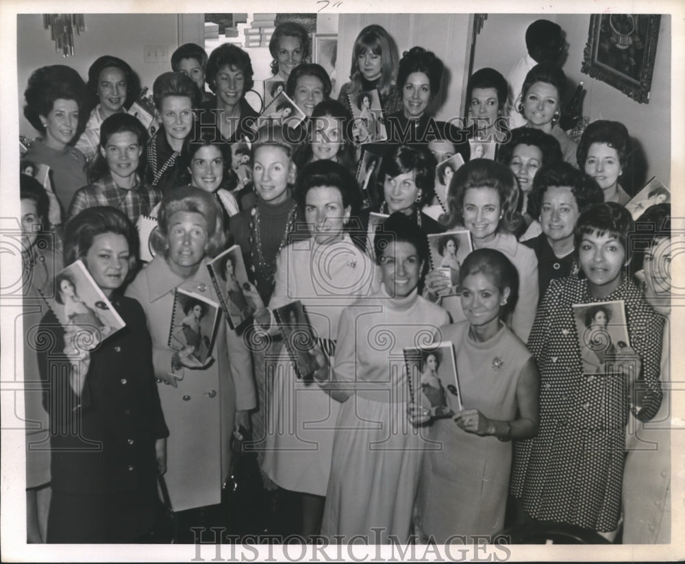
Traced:
POLYGON ((603 201, 587 208, 575 222, 575 252, 580 249, 583 235, 602 236, 608 234, 619 241, 625 249, 625 260, 630 260, 632 249, 628 239, 635 231, 630 212, 615 201, 603 201))

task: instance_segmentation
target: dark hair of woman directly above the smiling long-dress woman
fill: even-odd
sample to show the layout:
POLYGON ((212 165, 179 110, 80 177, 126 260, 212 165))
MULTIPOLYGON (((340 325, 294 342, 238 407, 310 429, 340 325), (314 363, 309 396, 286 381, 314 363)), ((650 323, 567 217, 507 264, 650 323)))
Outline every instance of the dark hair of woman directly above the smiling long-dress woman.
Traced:
POLYGON ((419 210, 432 201, 435 195, 435 167, 438 162, 425 145, 397 145, 381 161, 378 171, 379 182, 385 182, 386 176, 414 171, 414 184, 421 190, 421 199, 417 202, 419 210))

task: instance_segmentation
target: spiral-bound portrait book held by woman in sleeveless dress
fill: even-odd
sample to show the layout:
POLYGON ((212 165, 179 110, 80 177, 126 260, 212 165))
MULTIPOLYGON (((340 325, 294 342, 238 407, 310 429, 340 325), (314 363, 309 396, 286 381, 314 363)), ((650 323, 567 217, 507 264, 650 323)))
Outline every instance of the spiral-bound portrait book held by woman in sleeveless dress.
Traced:
POLYGON ((454 345, 450 341, 405 347, 409 399, 431 417, 451 417, 463 409, 454 345))

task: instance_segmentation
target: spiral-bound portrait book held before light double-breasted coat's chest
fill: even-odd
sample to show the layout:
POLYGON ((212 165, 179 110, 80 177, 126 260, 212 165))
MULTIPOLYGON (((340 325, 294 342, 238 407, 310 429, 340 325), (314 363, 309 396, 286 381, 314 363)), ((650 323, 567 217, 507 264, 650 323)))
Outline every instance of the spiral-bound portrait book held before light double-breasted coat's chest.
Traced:
POLYGON ((177 288, 172 307, 167 345, 174 350, 192 346, 190 356, 204 363, 212 353, 219 304, 199 293, 177 288))

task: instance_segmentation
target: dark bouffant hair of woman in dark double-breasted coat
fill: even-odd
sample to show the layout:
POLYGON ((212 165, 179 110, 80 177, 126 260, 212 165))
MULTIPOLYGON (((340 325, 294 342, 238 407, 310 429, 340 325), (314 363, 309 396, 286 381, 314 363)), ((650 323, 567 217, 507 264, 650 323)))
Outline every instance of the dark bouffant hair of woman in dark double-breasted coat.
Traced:
MULTIPOLYGON (((64 265, 84 259, 97 235, 114 233, 123 235, 129 245, 129 271, 124 284, 136 276, 138 230, 126 214, 111 206, 95 206, 80 211, 64 225, 64 265)), ((86 265, 87 266, 87 265, 86 265)))

